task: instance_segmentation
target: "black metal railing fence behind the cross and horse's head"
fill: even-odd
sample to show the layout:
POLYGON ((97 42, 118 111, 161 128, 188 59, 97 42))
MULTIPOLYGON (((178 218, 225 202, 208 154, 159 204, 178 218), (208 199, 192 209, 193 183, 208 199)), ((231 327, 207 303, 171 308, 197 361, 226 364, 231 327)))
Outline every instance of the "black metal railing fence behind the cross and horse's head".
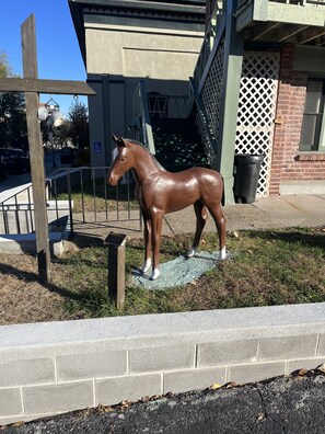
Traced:
MULTIPOLYGON (((128 172, 116 187, 107 184, 108 167, 62 168, 46 180, 47 215, 53 230, 68 221, 71 236, 74 225, 95 227, 132 221, 141 229, 135 182, 128 172)), ((135 226, 135 225, 134 225, 135 226)), ((33 189, 26 189, 0 202, 0 233, 30 233, 35 230, 33 189)))

